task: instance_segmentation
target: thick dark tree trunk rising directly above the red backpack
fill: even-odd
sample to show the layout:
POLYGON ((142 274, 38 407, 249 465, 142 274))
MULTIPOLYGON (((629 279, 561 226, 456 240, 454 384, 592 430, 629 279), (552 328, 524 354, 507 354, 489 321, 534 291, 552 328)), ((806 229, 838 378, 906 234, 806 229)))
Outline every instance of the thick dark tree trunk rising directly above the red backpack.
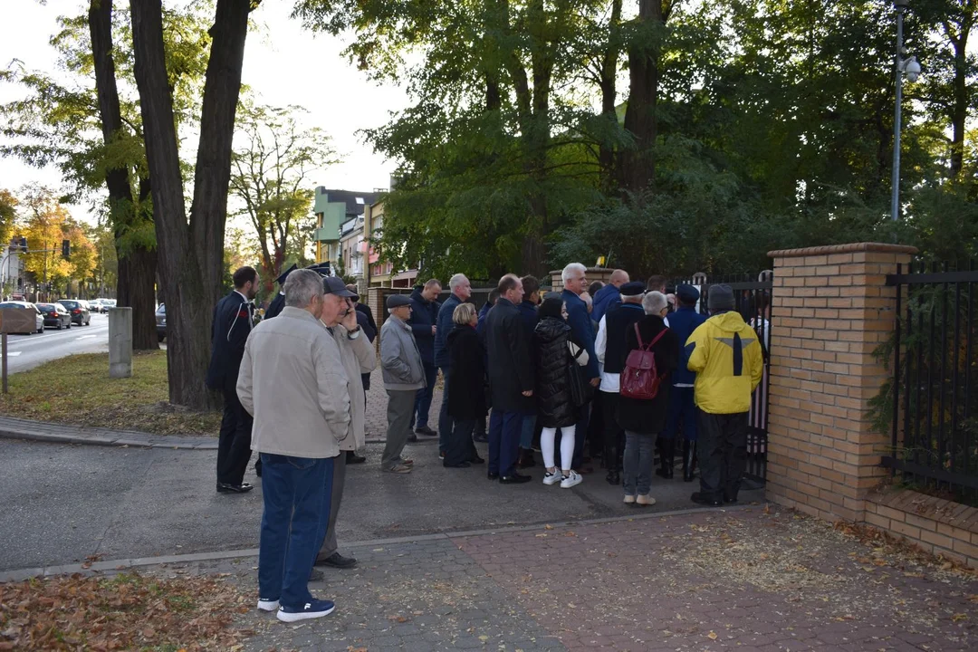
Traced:
POLYGON ((625 109, 625 129, 635 142, 622 152, 621 187, 638 193, 651 187, 655 179, 655 155, 652 148, 657 136, 655 108, 659 90, 659 36, 655 33, 667 18, 663 0, 640 0, 638 42, 629 47, 629 97, 625 109))

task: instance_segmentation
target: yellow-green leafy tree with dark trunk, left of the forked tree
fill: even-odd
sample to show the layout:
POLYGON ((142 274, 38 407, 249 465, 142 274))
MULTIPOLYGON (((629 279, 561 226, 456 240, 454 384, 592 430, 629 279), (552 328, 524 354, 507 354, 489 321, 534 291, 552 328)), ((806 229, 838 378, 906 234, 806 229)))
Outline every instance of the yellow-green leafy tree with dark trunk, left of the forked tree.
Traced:
MULTIPOLYGON (((179 122, 186 123, 200 103, 206 28, 193 6, 163 16, 167 69, 179 122)), ((73 196, 107 202, 121 271, 111 276, 118 305, 133 308, 134 348, 156 349, 156 236, 139 104, 128 90, 134 85, 131 29, 112 0, 90 0, 86 14, 62 17, 60 24, 51 42, 64 74, 0 73, 29 92, 0 108, 11 142, 0 152, 31 165, 56 164, 73 196)))

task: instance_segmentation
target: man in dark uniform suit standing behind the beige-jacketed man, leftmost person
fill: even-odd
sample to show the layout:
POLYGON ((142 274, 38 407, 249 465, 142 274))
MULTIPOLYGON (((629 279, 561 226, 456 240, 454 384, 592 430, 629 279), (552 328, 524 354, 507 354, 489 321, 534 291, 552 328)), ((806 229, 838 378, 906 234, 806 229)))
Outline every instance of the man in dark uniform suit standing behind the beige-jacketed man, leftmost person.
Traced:
POLYGON ((252 486, 244 480, 244 469, 251 457, 251 415, 238 399, 238 370, 244 357, 244 343, 251 333, 254 304, 258 292, 258 273, 243 267, 232 277, 235 288, 217 302, 210 328, 210 366, 207 387, 224 394, 224 416, 217 441, 217 491, 244 494, 252 486))

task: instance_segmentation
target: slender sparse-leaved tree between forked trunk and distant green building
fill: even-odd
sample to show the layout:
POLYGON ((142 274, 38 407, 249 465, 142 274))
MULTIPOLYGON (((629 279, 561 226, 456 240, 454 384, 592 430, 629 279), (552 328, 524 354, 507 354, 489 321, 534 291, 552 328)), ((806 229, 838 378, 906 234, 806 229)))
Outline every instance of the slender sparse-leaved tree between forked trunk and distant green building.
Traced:
POLYGON ((310 213, 309 173, 335 161, 321 129, 298 125, 296 115, 304 111, 245 103, 238 132, 242 142, 231 159, 231 193, 254 228, 269 291, 310 213))

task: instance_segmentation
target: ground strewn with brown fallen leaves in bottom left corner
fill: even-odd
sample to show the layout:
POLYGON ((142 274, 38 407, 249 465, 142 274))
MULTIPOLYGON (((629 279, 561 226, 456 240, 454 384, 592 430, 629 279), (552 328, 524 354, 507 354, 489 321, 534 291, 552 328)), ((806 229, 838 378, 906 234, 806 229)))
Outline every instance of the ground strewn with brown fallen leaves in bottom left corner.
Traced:
POLYGON ((221 576, 127 573, 0 584, 0 650, 238 650, 252 633, 235 622, 249 602, 221 576))

